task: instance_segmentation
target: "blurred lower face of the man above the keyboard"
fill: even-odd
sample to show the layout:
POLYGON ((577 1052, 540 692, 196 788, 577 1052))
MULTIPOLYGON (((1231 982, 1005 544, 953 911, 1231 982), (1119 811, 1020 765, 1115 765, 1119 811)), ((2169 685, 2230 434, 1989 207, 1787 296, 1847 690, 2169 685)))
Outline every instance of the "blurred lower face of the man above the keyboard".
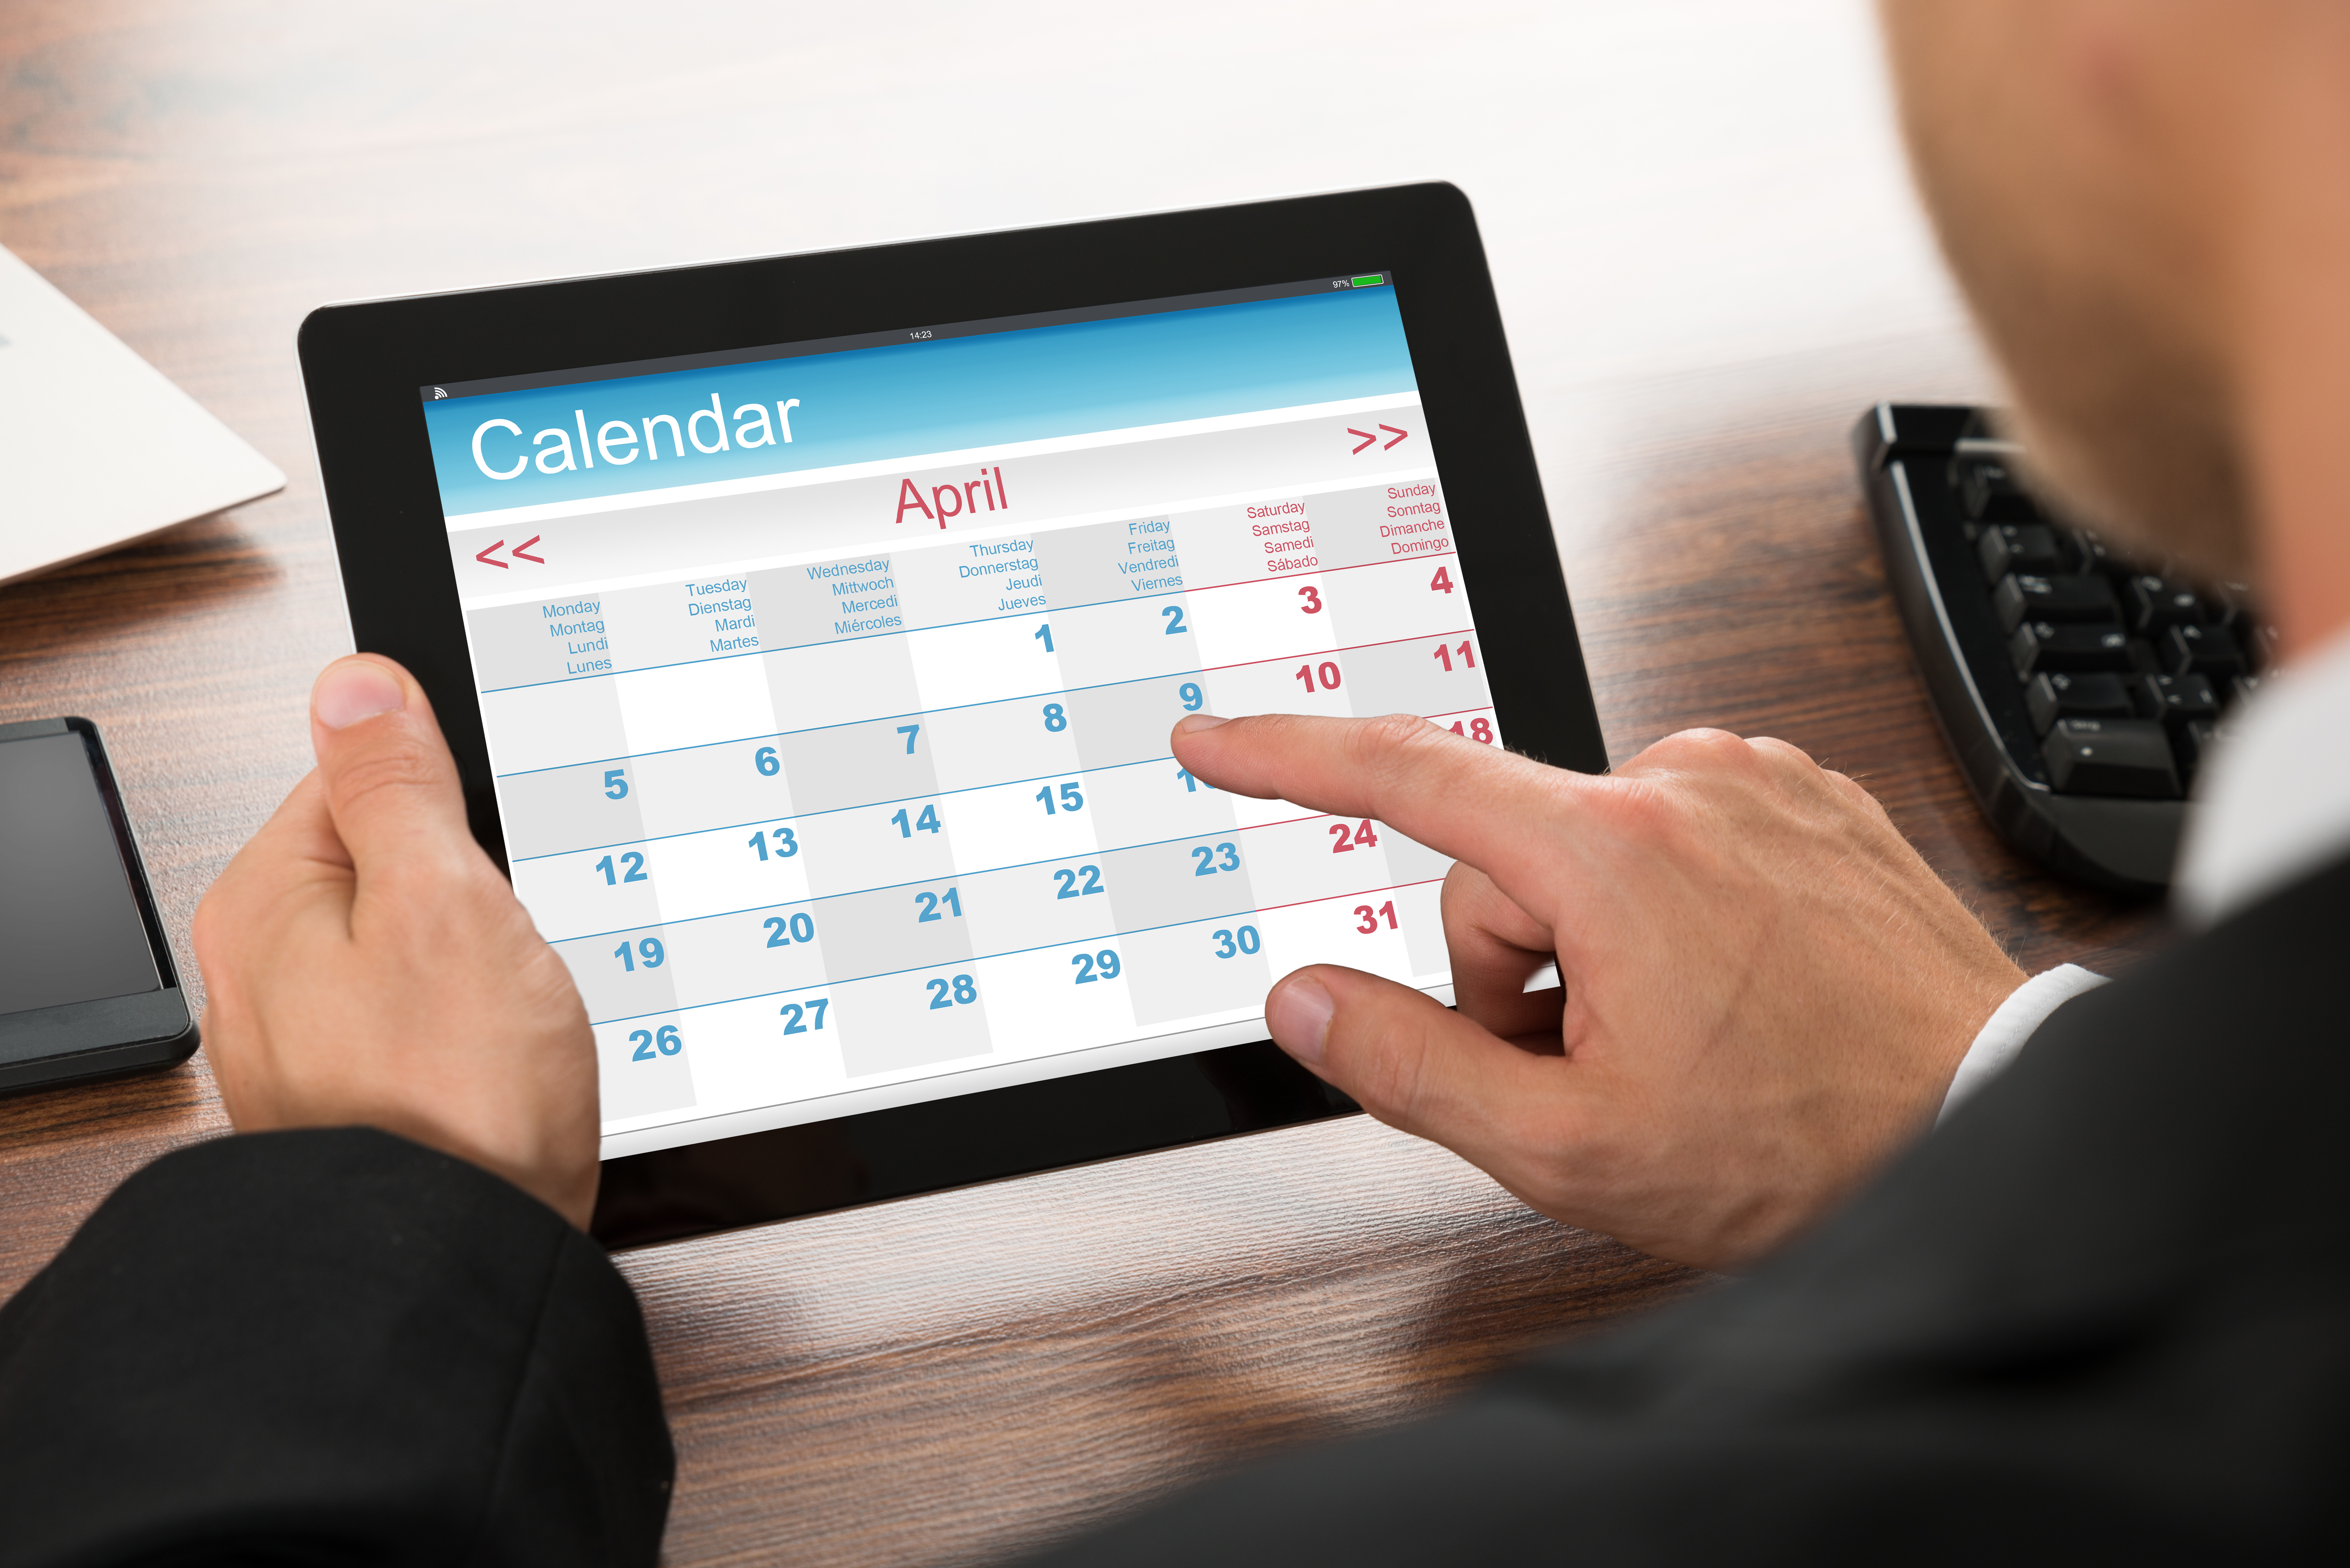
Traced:
POLYGON ((1918 181, 2047 484, 2202 576, 2275 567, 2251 527, 2268 496, 2247 390, 2272 353, 2254 339, 2280 329, 2263 310, 2294 263, 2294 207, 2338 200, 2312 179, 2350 181, 2350 5, 1882 14, 1918 181))

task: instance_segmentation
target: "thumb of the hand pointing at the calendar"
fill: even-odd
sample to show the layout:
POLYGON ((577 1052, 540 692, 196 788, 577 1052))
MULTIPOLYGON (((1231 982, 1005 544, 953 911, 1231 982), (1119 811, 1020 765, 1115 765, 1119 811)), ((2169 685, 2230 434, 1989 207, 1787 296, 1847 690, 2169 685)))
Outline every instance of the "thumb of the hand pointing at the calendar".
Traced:
POLYGON ((1274 1041, 1379 1121, 1499 1173, 1518 1119, 1558 1091, 1556 1056, 1532 1056, 1434 997, 1314 964, 1264 997, 1274 1041))

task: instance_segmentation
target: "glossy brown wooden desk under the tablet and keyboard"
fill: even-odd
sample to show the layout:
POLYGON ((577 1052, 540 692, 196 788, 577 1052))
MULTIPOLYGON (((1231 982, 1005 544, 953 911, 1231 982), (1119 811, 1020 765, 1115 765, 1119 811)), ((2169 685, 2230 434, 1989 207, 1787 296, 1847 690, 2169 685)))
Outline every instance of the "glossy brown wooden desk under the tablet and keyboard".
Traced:
MULTIPOLYGON (((2026 964, 2153 940, 1988 835, 1882 590, 1847 423, 1990 383, 1859 5, 1340 28, 1234 2, 1180 35, 1147 7, 785 9, 691 7, 698 35, 454 0, 0 19, 0 242, 294 475, 0 590, 0 722, 106 729, 183 964, 348 646, 291 355, 313 303, 1405 174, 1485 214, 1612 755, 1784 736, 1868 780, 2026 964)), ((202 1058, 0 1103, 0 1293, 125 1173, 221 1131, 202 1058)), ((623 1267, 679 1439, 674 1563, 989 1556, 1701 1284, 1361 1119, 623 1267)))

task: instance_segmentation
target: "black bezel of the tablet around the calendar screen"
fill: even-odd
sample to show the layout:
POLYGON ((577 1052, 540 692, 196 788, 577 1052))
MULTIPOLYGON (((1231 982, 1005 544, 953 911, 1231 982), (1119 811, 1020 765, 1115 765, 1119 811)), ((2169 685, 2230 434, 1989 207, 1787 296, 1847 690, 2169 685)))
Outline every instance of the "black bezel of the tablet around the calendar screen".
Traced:
MULTIPOLYGON (((303 386, 350 630, 423 682, 503 865, 421 386, 1119 306, 1391 268, 1502 733, 1607 766, 1476 216, 1419 183, 1053 228, 322 306, 303 386)), ((609 1246, 780 1220, 1351 1105, 1269 1041, 1069 1074, 604 1166, 609 1246)))

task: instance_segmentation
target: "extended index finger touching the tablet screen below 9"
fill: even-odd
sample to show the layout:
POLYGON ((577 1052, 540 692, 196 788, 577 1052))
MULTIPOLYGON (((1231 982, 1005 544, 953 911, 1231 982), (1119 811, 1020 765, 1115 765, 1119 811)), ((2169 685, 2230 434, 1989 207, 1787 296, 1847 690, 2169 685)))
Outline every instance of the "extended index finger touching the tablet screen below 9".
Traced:
POLYGON ((1384 719, 1189 717, 1175 759, 1217 790, 1370 816, 1506 879, 1530 830, 1574 811, 1582 773, 1530 762, 1408 712, 1384 719))

